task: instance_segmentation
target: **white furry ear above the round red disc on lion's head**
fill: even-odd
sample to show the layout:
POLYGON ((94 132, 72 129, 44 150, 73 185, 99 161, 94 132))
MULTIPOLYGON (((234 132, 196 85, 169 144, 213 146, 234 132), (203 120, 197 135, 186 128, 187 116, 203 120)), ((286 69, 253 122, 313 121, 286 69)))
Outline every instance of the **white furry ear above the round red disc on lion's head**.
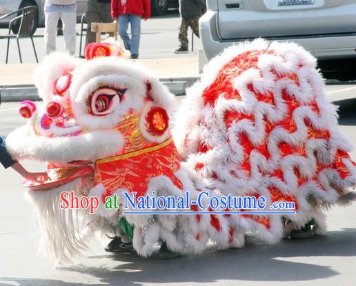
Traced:
POLYGON ((154 105, 171 112, 175 104, 175 96, 170 93, 166 85, 158 79, 151 77, 146 80, 146 100, 152 101, 154 105))

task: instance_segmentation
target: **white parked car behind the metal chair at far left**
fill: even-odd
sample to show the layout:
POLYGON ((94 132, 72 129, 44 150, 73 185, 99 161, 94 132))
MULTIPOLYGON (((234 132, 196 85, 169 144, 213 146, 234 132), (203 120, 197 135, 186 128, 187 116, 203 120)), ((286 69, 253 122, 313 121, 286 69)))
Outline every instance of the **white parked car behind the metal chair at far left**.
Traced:
MULTIPOLYGON (((81 15, 86 12, 88 0, 77 0, 77 19, 81 18, 81 15)), ((20 8, 26 6, 37 6, 37 17, 34 19, 33 32, 36 30, 37 26, 44 25, 44 3, 45 0, 0 0, 0 17, 4 14, 14 12, 20 8)), ((10 19, 3 19, 0 22, 1 27, 8 27, 10 19)))

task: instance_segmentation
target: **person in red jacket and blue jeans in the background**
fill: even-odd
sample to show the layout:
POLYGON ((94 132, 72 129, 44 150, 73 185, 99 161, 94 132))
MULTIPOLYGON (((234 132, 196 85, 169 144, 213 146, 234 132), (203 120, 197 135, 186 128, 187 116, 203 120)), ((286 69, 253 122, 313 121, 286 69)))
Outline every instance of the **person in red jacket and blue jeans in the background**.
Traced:
POLYGON ((141 34, 141 18, 150 18, 150 0, 112 0, 111 17, 119 23, 119 34, 126 50, 130 50, 131 58, 139 57, 139 39, 141 34), (128 23, 131 26, 131 39, 128 35, 128 23))

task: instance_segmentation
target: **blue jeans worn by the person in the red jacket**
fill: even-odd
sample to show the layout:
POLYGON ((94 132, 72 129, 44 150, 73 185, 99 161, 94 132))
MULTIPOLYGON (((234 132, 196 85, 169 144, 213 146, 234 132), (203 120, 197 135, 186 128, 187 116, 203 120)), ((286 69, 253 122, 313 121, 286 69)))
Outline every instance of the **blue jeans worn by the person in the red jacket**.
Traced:
POLYGON ((139 55, 139 37, 141 33, 141 17, 132 14, 124 14, 119 17, 119 34, 126 50, 131 54, 139 55), (131 25, 131 39, 128 36, 128 23, 131 25))

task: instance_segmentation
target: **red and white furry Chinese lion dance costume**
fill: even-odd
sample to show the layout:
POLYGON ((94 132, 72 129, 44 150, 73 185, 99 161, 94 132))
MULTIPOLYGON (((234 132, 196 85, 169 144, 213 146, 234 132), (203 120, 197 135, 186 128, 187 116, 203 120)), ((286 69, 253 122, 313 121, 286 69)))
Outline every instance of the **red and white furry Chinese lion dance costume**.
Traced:
POLYGON ((295 202, 297 214, 283 217, 228 210, 124 215, 141 256, 159 241, 178 253, 202 252, 208 240, 219 249, 242 247, 246 232, 276 243, 290 225, 311 219, 322 234, 324 207, 353 200, 352 145, 337 128, 315 59, 298 45, 256 40, 226 49, 179 108, 152 72, 124 59, 114 43, 90 49, 87 61, 64 54, 43 61, 35 74, 43 107, 22 103, 28 124, 7 140, 14 158, 46 161, 49 174, 61 178, 28 188, 39 210, 41 249, 52 258, 70 260, 97 230, 119 235, 123 214, 103 202, 114 194, 122 199, 123 191, 264 196, 268 210, 275 201, 295 202), (101 205, 95 214, 59 210, 62 191, 98 196, 101 205))

